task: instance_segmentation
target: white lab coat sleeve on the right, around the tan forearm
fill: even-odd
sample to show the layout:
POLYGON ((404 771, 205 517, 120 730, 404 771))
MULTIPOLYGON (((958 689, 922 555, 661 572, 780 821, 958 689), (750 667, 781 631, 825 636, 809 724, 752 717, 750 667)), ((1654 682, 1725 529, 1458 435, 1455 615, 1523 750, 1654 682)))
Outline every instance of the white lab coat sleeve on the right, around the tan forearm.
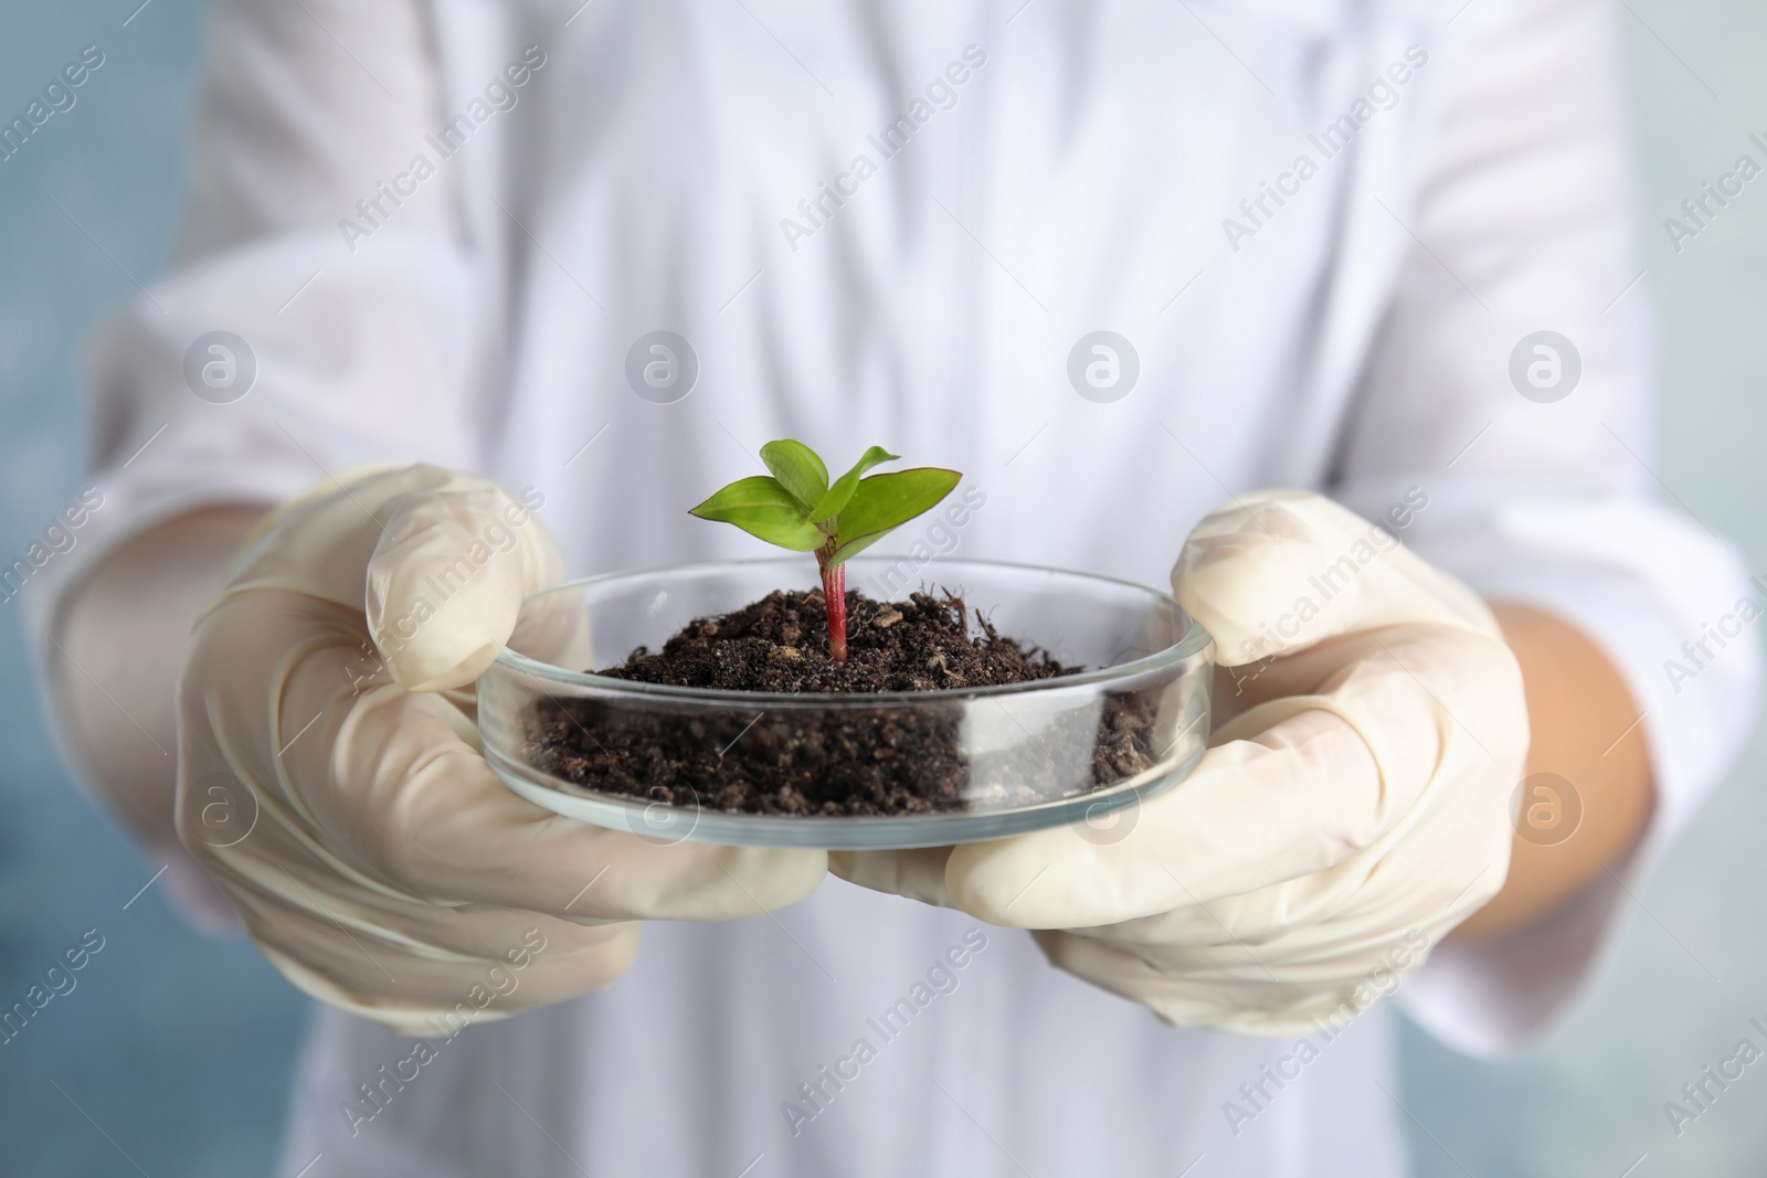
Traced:
POLYGON ((1548 1030, 1739 751, 1758 678, 1744 618, 1767 592, 1654 454, 1615 7, 1481 2, 1431 53, 1442 88, 1421 171, 1408 194, 1378 194, 1410 244, 1334 495, 1486 597, 1550 609, 1603 646, 1642 714, 1613 738, 1647 742, 1657 789, 1650 830, 1615 874, 1528 929, 1440 945, 1399 991, 1438 1038, 1490 1054, 1548 1030), (1539 330, 1571 341, 1581 374, 1536 387, 1527 364, 1546 364, 1544 383, 1551 366, 1530 346, 1528 397, 1511 355, 1539 330))

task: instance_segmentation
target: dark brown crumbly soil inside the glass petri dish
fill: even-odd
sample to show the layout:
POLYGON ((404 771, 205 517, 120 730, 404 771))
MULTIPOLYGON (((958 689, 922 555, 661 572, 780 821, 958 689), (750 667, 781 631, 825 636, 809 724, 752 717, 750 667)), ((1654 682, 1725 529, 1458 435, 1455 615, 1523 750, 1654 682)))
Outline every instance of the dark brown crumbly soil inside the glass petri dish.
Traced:
MULTIPOLYGON (((769 593, 717 618, 696 618, 663 645, 640 646, 611 678, 723 691, 875 694, 991 687, 1073 675, 1046 652, 998 634, 975 611, 975 634, 959 597, 915 593, 906 602, 846 595, 848 657, 827 653, 820 592, 769 593)), ((604 793, 682 807, 758 814, 876 816, 1011 805, 1064 793, 1057 761, 1085 747, 1012 742, 1011 763, 984 777, 1007 781, 975 797, 977 777, 959 742, 961 701, 914 710, 855 706, 806 712, 756 706, 753 714, 682 705, 679 712, 631 712, 597 699, 541 699, 530 717, 534 765, 604 793)), ((1027 733, 1030 735, 1030 733, 1027 733)), ((1092 744, 1099 789, 1157 758, 1152 715, 1134 696, 1106 701, 1097 731, 1067 733, 1092 744)), ((1057 740, 1057 735, 1048 735, 1057 740)), ((1083 761, 1080 761, 1083 765, 1083 761)), ((1083 774, 1083 770, 1081 770, 1083 774)))

